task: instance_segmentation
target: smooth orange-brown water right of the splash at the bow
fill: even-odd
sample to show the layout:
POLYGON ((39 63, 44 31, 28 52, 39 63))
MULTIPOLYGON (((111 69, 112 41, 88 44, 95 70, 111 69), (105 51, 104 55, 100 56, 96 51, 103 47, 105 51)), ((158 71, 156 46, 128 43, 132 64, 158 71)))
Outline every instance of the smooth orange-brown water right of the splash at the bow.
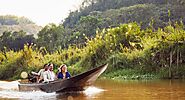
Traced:
POLYGON ((179 80, 112 81, 100 80, 107 89, 96 100, 185 100, 185 82, 179 80))

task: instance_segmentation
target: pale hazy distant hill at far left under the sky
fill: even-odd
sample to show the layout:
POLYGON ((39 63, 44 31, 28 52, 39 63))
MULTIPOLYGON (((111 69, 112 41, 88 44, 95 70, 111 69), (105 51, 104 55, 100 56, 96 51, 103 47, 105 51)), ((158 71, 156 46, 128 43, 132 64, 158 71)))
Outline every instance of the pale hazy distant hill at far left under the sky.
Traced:
POLYGON ((0 35, 5 31, 25 31, 27 34, 36 34, 42 27, 26 17, 17 17, 14 15, 0 16, 0 35))

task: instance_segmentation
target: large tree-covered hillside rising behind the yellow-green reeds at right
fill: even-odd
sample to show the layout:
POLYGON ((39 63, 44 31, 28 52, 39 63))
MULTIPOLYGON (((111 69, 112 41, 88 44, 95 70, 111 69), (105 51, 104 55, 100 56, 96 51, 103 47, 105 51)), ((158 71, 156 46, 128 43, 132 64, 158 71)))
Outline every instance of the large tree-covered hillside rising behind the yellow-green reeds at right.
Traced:
POLYGON ((137 22, 142 29, 164 28, 169 23, 185 24, 184 0, 84 0, 79 10, 71 12, 62 25, 68 33, 65 44, 83 44, 97 30, 137 22), (76 42, 75 37, 78 38, 76 42))

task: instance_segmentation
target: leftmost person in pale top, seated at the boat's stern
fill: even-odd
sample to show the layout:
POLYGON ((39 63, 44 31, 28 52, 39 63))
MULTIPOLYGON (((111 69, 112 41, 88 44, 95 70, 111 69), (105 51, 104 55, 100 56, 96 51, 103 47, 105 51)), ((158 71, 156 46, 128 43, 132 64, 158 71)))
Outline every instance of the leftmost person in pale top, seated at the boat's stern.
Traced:
POLYGON ((40 83, 44 80, 43 73, 44 73, 44 71, 46 70, 47 67, 48 67, 48 64, 44 64, 44 67, 42 69, 40 69, 38 73, 31 72, 33 75, 37 76, 37 82, 38 83, 40 83))

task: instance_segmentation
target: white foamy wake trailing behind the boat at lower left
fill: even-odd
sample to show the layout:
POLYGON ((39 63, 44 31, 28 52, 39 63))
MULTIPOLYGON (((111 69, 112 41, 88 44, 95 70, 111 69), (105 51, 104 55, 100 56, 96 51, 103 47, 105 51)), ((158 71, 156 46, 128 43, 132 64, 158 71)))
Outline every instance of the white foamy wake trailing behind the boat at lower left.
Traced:
POLYGON ((0 98, 9 99, 53 99, 56 93, 45 93, 42 91, 20 92, 18 81, 0 81, 0 98))

